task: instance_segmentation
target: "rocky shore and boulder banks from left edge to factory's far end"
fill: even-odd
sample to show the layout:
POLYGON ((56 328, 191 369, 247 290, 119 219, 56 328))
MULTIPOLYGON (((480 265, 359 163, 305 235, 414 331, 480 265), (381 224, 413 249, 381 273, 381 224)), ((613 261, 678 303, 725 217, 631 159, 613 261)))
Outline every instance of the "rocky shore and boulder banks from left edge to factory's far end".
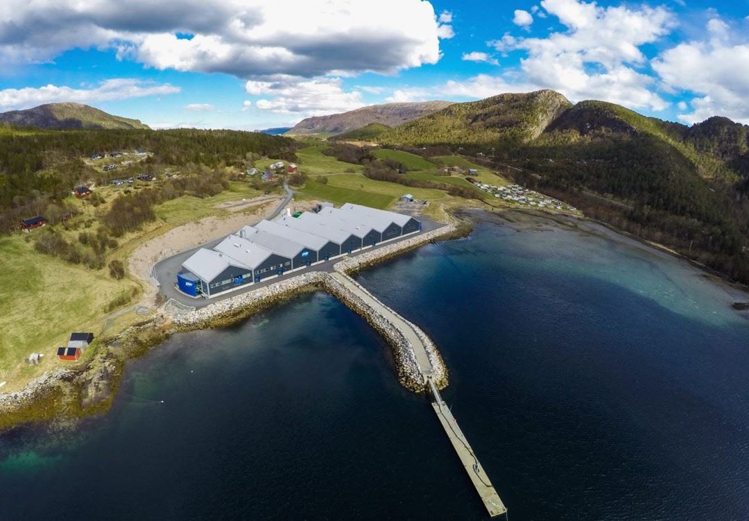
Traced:
MULTIPOLYGON (((347 275, 353 274, 415 250, 423 244, 464 237, 470 233, 472 227, 471 223, 458 220, 457 223, 446 224, 388 247, 342 259, 336 262, 334 269, 347 275)), ((0 394, 0 432, 25 424, 65 419, 76 421, 106 412, 117 393, 127 361, 145 355, 172 334, 234 325, 270 307, 291 301, 303 293, 325 291, 339 298, 333 284, 326 280, 327 277, 330 277, 330 274, 308 271, 179 316, 170 316, 162 308, 154 319, 132 325, 115 337, 103 338, 96 355, 87 365, 45 373, 19 391, 0 394)), ((339 292, 339 295, 342 294, 339 292)), ((395 357, 401 385, 412 391, 423 391, 423 384, 416 383, 412 360, 405 354, 407 345, 404 340, 393 334, 393 331, 389 331, 383 325, 381 317, 377 319, 369 313, 360 313, 351 305, 353 303, 347 303, 343 298, 339 300, 363 316, 386 340, 395 357)), ((408 322, 406 319, 403 320, 408 322)), ((420 338, 428 340, 416 325, 408 323, 413 326, 420 338)), ((428 340, 428 345, 431 346, 430 361, 437 367, 444 367, 434 343, 428 340)), ((446 368, 437 374, 436 380, 440 388, 447 385, 446 368)))

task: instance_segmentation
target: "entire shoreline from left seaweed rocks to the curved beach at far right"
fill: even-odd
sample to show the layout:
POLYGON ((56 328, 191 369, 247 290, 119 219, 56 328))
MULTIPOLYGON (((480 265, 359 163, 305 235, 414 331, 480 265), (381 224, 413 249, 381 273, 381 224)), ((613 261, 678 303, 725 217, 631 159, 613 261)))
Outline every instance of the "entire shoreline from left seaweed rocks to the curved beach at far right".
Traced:
MULTIPOLYGON (((601 226, 607 232, 637 243, 638 247, 651 249, 673 259, 686 261, 691 268, 700 271, 703 277, 710 278, 714 283, 721 283, 732 298, 739 298, 738 301, 734 302, 733 310, 742 318, 749 319, 749 312, 741 309, 745 302, 749 302, 749 287, 730 280, 723 274, 700 265, 700 263, 694 262, 681 253, 618 230, 607 223, 589 217, 575 217, 568 214, 539 212, 524 208, 487 211, 483 208, 467 206, 457 209, 452 217, 452 223, 439 229, 425 232, 423 235, 417 235, 380 250, 342 259, 336 262, 334 270, 351 275, 370 266, 387 262, 402 253, 415 250, 431 241, 466 237, 470 235, 473 223, 476 220, 493 221, 499 219, 509 223, 519 223, 522 219, 527 219, 529 223, 533 221, 533 226, 548 226, 544 221, 550 221, 557 226, 578 229, 583 233, 596 233, 591 229, 580 229, 580 225, 590 224, 601 226), (521 217, 521 219, 513 219, 513 215, 521 217), (742 298, 745 299, 744 302, 741 301, 742 298)), ((598 232, 598 235, 606 237, 607 234, 598 232)), ((22 424, 53 421, 60 418, 78 419, 106 412, 117 392, 121 373, 124 372, 127 361, 145 355, 155 346, 171 337, 172 334, 234 325, 261 311, 285 304, 297 295, 317 291, 324 291, 333 295, 344 305, 354 310, 355 313, 362 316, 383 337, 383 340, 388 343, 392 350, 396 370, 398 371, 398 381, 401 385, 412 391, 422 391, 423 385, 417 383, 417 379, 414 377, 413 360, 403 355, 404 344, 402 339, 398 340, 397 335, 393 335, 392 331, 383 328, 379 323, 380 320, 368 316, 366 312, 357 310, 357 304, 351 301, 347 302, 345 297, 340 296, 340 293, 336 295, 335 289, 331 290, 332 286, 330 281, 327 280, 329 277, 330 274, 321 271, 308 271, 261 289, 249 291, 224 301, 214 302, 201 310, 190 311, 178 316, 169 315, 162 307, 160 313, 154 319, 132 325, 115 337, 103 338, 99 352, 88 365, 76 368, 58 368, 37 377, 19 391, 0 394, 0 432, 22 424), (267 295, 253 295, 255 292, 267 292, 268 290, 270 292, 267 295), (188 319, 186 315, 192 316, 188 319)), ((730 303, 729 306, 732 307, 730 303)), ((437 367, 444 367, 439 351, 428 339, 428 336, 423 334, 418 326, 408 322, 407 319, 403 320, 412 325, 417 334, 420 333, 419 337, 422 338, 422 341, 425 338, 425 345, 431 345, 430 361, 437 367)), ((443 373, 437 378, 440 389, 447 385, 447 375, 448 371, 445 367, 443 373)))

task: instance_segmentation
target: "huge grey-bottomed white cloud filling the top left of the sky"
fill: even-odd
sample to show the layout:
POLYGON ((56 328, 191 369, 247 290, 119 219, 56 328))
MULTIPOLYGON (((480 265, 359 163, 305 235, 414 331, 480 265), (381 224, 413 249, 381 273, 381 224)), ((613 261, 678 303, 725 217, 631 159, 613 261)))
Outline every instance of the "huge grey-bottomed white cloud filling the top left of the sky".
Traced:
POLYGON ((438 22, 421 0, 4 0, 0 62, 114 48, 158 69, 321 76, 392 73, 440 59, 438 22), (393 16, 397 13, 397 16, 393 16), (177 33, 189 34, 180 38, 177 33))

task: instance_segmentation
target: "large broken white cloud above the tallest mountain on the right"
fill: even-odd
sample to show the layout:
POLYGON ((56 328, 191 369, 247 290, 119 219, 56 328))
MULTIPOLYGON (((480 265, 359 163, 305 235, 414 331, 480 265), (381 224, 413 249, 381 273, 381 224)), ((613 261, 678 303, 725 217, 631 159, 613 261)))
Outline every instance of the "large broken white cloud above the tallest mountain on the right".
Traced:
POLYGON ((520 65, 524 83, 554 88, 571 100, 666 108, 667 102, 654 92, 655 79, 642 70, 647 60, 640 46, 668 34, 673 27, 669 10, 647 5, 600 7, 583 0, 542 0, 541 6, 566 30, 543 38, 505 34, 489 42, 500 52, 527 53, 520 65))

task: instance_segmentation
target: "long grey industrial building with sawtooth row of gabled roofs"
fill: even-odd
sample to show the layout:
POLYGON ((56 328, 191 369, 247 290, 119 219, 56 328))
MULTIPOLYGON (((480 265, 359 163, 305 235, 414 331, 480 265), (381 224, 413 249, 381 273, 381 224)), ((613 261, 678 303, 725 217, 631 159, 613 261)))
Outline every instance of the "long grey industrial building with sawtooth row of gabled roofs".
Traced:
POLYGON ((408 215, 348 203, 263 220, 193 253, 182 264, 177 287, 212 298, 420 230, 421 223, 408 215))

